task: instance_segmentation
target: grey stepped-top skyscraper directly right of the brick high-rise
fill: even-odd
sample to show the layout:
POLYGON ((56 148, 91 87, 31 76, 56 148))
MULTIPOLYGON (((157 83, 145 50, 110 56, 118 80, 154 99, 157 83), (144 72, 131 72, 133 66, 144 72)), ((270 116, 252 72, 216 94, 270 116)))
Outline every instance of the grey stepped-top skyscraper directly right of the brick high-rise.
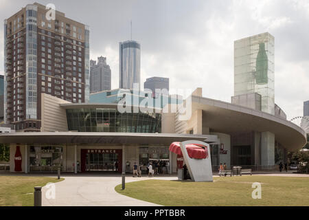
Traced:
POLYGON ((90 92, 111 90, 111 68, 106 63, 106 57, 98 57, 90 61, 90 92))

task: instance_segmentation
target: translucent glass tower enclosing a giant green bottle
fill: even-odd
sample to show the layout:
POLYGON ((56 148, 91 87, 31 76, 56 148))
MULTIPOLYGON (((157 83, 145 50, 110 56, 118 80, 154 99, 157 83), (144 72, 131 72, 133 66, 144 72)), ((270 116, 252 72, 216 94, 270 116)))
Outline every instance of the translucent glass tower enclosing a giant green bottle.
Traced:
POLYGON ((275 38, 264 33, 234 43, 234 96, 258 93, 275 114, 275 38))

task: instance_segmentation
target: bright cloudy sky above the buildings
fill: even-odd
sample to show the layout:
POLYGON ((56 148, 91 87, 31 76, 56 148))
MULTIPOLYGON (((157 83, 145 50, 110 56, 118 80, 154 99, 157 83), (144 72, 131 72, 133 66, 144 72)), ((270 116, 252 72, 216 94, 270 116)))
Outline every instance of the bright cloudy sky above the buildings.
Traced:
MULTIPOLYGON (((170 88, 203 88, 203 96, 231 102, 233 42, 269 32, 275 36, 275 102, 288 120, 309 100, 308 0, 66 0, 56 10, 91 28, 91 58, 106 56, 112 89, 119 87, 119 42, 141 43, 141 84, 170 78, 170 88)), ((34 1, 0 0, 0 20, 34 1)), ((3 63, 3 25, 0 26, 3 63)), ((0 65, 3 74, 3 65, 0 65)))

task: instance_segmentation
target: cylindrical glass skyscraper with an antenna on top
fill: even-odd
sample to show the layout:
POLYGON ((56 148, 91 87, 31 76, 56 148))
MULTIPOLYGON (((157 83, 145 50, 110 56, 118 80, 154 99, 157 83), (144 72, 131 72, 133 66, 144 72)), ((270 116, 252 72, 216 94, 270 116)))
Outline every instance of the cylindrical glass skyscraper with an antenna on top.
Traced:
POLYGON ((141 45, 136 41, 119 43, 119 88, 133 89, 133 84, 141 87, 141 45))

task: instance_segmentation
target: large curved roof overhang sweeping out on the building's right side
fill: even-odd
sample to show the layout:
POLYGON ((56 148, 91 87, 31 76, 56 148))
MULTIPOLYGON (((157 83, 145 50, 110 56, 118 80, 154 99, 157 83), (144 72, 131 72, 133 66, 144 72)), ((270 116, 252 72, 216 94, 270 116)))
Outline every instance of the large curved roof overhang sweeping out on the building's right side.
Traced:
POLYGON ((211 131, 237 135, 269 131, 290 151, 306 145, 306 132, 293 122, 237 104, 192 96, 192 111, 203 110, 203 126, 211 131))

